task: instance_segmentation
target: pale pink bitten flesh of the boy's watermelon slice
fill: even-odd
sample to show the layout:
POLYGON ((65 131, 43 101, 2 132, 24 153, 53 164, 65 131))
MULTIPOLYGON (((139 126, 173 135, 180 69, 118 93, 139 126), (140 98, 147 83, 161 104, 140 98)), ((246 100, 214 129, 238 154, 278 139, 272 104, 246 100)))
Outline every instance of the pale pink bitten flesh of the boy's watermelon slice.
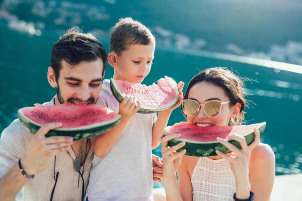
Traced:
POLYGON ((120 80, 115 80, 114 84, 123 96, 135 96, 145 108, 165 107, 174 102, 179 94, 177 83, 167 76, 161 78, 158 84, 153 83, 149 86, 120 80))

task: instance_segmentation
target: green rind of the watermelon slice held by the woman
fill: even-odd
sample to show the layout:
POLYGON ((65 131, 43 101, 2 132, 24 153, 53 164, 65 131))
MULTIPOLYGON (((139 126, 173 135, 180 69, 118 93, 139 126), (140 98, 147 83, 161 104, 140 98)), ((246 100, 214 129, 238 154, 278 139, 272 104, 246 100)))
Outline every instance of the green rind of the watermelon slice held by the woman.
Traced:
MULTIPOLYGON (((263 134, 266 127, 266 122, 262 122, 258 125, 258 130, 260 135, 263 134)), ((171 126, 165 128, 165 131, 169 131, 169 128, 171 126)), ((246 138, 247 144, 250 145, 252 142, 254 142, 255 134, 254 132, 247 133, 243 135, 246 138)), ((168 142, 168 146, 172 147, 174 145, 177 145, 178 143, 181 143, 182 141, 186 142, 186 145, 180 149, 177 150, 177 152, 180 152, 184 149, 186 149, 186 155, 188 156, 216 156, 215 150, 219 150, 223 153, 231 153, 230 149, 226 148, 224 145, 217 141, 213 142, 195 142, 190 140, 184 140, 184 139, 173 139, 168 142)), ((241 149, 241 145, 239 142, 235 140, 229 140, 229 142, 233 145, 235 145, 238 149, 241 149)))

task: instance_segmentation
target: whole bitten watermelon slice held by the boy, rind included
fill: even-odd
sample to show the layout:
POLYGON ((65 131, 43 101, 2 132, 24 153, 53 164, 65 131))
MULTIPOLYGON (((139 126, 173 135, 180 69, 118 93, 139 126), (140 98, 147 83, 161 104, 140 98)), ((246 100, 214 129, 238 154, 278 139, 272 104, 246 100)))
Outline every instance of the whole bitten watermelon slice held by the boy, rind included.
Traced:
POLYGON ((143 114, 157 113, 171 108, 177 103, 179 95, 177 83, 167 76, 161 78, 158 84, 153 83, 149 86, 111 78, 110 88, 120 103, 126 95, 135 96, 141 102, 138 113, 143 114))

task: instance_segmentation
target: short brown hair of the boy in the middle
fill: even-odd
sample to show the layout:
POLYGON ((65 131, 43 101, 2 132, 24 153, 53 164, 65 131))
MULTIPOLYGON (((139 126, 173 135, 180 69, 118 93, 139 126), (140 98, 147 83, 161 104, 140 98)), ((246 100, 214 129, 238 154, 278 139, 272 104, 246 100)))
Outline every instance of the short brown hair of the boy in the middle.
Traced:
POLYGON ((113 27, 110 37, 109 51, 120 55, 131 44, 155 44, 151 31, 132 18, 121 18, 113 27))

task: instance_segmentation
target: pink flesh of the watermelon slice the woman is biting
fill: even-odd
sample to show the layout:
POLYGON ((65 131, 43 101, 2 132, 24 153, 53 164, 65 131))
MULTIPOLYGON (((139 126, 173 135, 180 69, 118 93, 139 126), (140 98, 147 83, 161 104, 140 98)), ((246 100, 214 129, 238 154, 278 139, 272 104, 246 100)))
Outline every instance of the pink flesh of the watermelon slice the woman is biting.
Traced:
POLYGON ((245 135, 252 133, 254 128, 258 128, 260 124, 242 125, 242 126, 208 126, 199 127, 196 124, 190 124, 187 122, 181 122, 174 124, 169 128, 169 132, 172 134, 181 134, 179 139, 185 139, 195 142, 213 142, 217 141, 217 137, 226 139, 226 137, 238 134, 245 135))

